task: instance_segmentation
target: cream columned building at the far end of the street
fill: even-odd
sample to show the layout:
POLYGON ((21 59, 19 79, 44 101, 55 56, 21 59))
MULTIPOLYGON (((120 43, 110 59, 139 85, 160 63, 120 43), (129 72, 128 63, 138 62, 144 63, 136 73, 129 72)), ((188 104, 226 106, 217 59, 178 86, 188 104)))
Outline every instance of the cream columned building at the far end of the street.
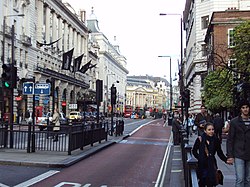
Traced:
MULTIPOLYGON (((172 109, 179 102, 179 88, 173 86, 172 109)), ((128 76, 126 89, 126 105, 133 109, 156 108, 158 110, 170 109, 170 84, 161 77, 153 76, 128 76)))

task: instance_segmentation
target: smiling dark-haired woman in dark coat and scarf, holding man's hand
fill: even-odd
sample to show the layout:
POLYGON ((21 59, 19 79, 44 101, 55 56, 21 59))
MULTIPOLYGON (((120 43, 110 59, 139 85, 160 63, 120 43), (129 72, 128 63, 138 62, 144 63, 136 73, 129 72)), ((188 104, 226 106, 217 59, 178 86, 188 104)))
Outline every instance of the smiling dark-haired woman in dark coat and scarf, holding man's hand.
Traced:
POLYGON ((205 123, 204 133, 195 140, 192 153, 198 160, 197 176, 199 187, 216 186, 218 166, 215 154, 217 153, 219 158, 225 163, 227 162, 227 157, 221 149, 220 140, 214 134, 214 125, 211 122, 205 123))

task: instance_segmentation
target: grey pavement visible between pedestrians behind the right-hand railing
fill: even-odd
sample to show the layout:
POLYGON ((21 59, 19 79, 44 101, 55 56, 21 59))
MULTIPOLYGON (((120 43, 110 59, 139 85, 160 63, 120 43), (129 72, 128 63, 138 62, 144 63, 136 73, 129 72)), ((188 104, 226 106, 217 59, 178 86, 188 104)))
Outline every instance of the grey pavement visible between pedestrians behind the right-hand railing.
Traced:
MULTIPOLYGON (((197 135, 194 135, 194 134, 192 137, 189 137, 189 144, 193 145, 196 138, 197 138, 197 135)), ((222 147, 224 154, 226 154, 226 139, 222 140, 221 147, 222 147)), ((216 156, 216 158, 217 158, 218 168, 222 171, 222 173, 224 175, 223 186, 234 187, 235 186, 234 166, 224 163, 223 161, 220 160, 220 158, 218 156, 216 156)), ((218 185, 218 186, 221 186, 221 185, 218 185)))

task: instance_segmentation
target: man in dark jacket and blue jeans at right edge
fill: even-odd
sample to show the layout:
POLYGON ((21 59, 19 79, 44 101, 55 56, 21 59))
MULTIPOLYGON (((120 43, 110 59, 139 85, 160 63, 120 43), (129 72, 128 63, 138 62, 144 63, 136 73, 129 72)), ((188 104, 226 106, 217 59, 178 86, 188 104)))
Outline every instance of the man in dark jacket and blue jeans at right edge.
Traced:
POLYGON ((238 106, 239 116, 229 122, 227 160, 234 164, 235 187, 250 187, 250 104, 242 100, 238 106))

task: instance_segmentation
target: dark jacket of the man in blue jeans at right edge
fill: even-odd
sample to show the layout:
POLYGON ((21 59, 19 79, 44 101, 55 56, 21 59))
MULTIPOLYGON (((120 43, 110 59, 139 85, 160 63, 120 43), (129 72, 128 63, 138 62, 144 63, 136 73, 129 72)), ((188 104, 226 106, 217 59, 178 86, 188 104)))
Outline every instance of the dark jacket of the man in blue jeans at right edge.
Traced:
POLYGON ((229 158, 250 160, 250 125, 245 125, 240 116, 232 119, 229 124, 227 156, 229 158))

